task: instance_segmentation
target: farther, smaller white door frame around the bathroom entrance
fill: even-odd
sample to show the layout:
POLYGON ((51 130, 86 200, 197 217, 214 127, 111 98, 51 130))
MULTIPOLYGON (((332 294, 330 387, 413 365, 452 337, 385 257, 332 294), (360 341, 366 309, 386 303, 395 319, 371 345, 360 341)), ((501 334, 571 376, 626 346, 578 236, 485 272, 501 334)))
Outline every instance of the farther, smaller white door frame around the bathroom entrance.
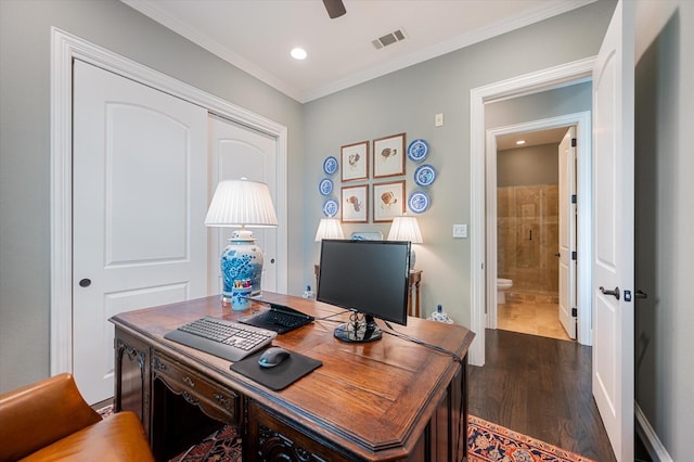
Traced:
MULTIPOLYGON (((582 245, 590 243, 591 228, 583 226, 582 221, 590 222, 590 197, 591 176, 592 176, 592 123, 591 112, 584 111, 575 114, 566 114, 557 117, 550 117, 540 120, 532 120, 505 127, 497 127, 487 130, 487 328, 497 329, 497 137, 510 133, 519 133, 526 131, 545 130, 551 128, 560 128, 567 126, 576 126, 576 140, 578 159, 577 168, 577 210, 578 210, 578 241, 582 245), (581 207, 582 205, 582 207, 581 207)), ((560 204, 565 197, 560 200, 560 204)), ((577 245, 578 247, 578 245, 577 245)), ((582 247, 580 247, 582 248, 582 247)), ((580 344, 590 345, 592 339, 591 332, 591 280, 590 267, 591 258, 589 252, 581 252, 578 255, 578 273, 576 290, 578 294, 578 335, 577 339, 580 344)))

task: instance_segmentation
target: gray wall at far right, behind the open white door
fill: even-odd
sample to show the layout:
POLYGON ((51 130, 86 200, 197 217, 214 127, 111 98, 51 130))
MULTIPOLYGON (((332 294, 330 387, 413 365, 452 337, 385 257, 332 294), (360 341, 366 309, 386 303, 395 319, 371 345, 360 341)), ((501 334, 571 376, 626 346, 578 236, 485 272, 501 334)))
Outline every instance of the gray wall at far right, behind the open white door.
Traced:
POLYGON ((635 399, 676 461, 694 450, 693 37, 693 2, 638 2, 635 399))

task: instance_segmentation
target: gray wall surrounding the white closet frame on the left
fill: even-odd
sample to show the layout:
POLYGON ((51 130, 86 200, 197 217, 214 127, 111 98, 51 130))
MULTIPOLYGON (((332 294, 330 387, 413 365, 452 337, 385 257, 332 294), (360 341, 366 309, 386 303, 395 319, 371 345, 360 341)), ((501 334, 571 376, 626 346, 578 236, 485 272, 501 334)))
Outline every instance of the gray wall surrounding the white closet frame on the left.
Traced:
MULTIPOLYGON (((301 105, 117 0, 0 1, 0 393, 49 374, 51 26, 288 127, 303 183, 301 105), (28 341, 31 333, 31 341, 28 341)), ((290 287, 301 290, 300 189, 288 188, 290 287)))

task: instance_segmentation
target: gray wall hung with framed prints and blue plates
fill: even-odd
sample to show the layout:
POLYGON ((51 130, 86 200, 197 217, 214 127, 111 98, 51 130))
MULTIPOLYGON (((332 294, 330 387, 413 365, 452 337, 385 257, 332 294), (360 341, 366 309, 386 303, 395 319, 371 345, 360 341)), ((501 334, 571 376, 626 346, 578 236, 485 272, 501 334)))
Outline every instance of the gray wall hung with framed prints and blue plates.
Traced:
MULTIPOLYGON (((426 162, 439 175, 429 189, 430 208, 417 216, 425 241, 416 248, 416 266, 423 270, 423 312, 428 316, 442 304, 457 322, 470 325, 470 240, 451 236, 452 224, 470 223, 471 216, 470 90, 596 54, 614 7, 612 1, 600 1, 307 103, 306 226, 314 230, 322 217, 323 197, 318 192, 324 177, 322 162, 327 155, 337 156, 340 145, 402 131, 408 140, 426 139, 430 145, 426 162), (444 113, 444 127, 434 126, 437 113, 444 113)), ((408 162, 408 193, 415 187, 415 167, 408 162)), ((344 229, 347 234, 388 232, 388 226, 381 223, 344 229)), ((319 255, 312 238, 311 232, 304 234, 307 280, 319 255)))

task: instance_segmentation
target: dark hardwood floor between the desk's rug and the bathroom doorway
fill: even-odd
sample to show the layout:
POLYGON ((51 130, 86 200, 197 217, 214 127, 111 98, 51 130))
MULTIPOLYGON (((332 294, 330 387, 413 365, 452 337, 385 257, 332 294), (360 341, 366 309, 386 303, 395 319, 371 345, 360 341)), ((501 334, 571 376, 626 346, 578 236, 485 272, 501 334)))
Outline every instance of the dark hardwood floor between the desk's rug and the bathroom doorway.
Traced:
POLYGON ((486 364, 470 367, 470 413, 578 452, 615 461, 591 390, 591 348, 487 330, 486 364))

